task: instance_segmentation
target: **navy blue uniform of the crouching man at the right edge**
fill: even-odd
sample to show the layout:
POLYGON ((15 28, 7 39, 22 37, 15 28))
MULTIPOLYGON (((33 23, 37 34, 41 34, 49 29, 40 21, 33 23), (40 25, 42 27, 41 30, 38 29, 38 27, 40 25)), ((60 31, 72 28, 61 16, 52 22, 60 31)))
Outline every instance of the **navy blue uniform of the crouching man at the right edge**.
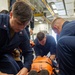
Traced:
POLYGON ((75 21, 63 24, 57 44, 60 75, 75 75, 75 21))

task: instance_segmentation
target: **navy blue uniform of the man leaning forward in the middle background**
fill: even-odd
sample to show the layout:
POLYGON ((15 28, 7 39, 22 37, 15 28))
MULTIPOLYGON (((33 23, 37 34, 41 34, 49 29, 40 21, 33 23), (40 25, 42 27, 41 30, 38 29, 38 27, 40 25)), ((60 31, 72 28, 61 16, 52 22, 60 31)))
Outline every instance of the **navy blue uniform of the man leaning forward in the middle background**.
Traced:
POLYGON ((49 52, 50 54, 56 54, 56 42, 54 38, 50 35, 46 35, 46 43, 44 46, 39 44, 38 39, 35 39, 35 54, 36 56, 44 56, 47 55, 49 52))

